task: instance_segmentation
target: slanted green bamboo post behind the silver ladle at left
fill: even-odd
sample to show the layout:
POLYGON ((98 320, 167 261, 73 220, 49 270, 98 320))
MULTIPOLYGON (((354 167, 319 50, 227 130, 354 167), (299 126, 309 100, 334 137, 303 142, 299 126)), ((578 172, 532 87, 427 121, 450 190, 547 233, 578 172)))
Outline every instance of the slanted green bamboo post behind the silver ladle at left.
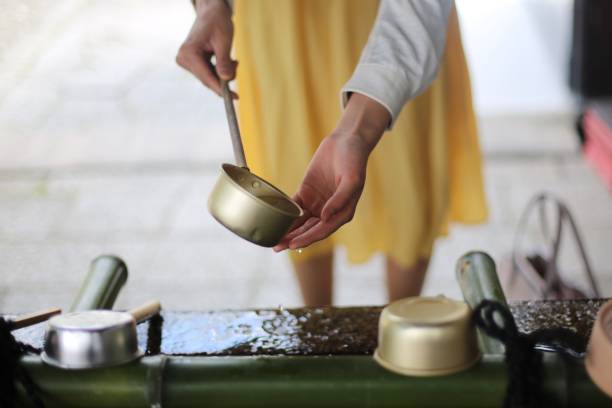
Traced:
POLYGON ((114 255, 100 255, 91 262, 70 311, 112 309, 127 277, 125 262, 114 255))

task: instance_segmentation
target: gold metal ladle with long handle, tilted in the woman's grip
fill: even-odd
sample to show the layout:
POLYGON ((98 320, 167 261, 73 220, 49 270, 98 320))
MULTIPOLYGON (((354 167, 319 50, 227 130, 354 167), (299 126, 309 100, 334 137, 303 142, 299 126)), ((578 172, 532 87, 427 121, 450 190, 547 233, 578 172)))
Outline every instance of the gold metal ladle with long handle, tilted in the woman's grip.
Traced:
POLYGON ((272 247, 304 212, 281 190, 250 172, 232 95, 227 82, 222 81, 221 85, 236 165, 221 166, 221 175, 208 199, 208 210, 236 235, 254 244, 272 247))

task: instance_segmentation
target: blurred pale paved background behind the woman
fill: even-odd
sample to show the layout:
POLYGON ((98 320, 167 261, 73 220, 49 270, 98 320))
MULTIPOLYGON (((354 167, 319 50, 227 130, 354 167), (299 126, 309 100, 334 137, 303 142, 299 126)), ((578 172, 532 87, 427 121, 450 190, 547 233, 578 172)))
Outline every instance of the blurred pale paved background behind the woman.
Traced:
MULTIPOLYGON (((573 210, 612 296, 612 196, 576 131, 586 74, 574 69, 578 92, 569 87, 574 2, 457 5, 490 219, 437 242, 425 293, 460 297, 458 257, 507 257, 521 211, 547 190, 573 210)), ((175 310, 301 304, 286 255, 206 210, 232 155, 221 100, 174 62, 193 18, 188 0, 0 0, 1 311, 67 306, 104 253, 130 270, 120 308, 152 297, 175 310)), ((339 255, 336 303, 384 303, 382 257, 339 255)), ((561 267, 582 282, 571 241, 561 267)))

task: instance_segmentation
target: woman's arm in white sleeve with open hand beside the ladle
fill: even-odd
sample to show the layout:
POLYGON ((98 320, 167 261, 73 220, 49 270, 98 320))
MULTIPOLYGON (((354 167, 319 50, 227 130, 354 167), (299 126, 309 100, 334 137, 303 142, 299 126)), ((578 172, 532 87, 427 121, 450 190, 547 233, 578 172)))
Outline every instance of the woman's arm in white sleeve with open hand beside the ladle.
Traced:
POLYGON ((325 239, 353 218, 370 153, 404 104, 436 76, 451 7, 452 0, 382 0, 359 64, 342 89, 342 117, 294 197, 305 216, 275 251, 325 239))

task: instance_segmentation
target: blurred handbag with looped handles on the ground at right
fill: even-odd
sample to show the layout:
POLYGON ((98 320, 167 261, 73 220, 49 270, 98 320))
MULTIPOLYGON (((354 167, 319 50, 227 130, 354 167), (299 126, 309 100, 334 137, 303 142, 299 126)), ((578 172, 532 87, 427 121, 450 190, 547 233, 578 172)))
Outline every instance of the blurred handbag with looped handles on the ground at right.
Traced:
POLYGON ((540 193, 527 204, 519 218, 510 260, 500 268, 500 281, 506 297, 511 300, 581 299, 600 296, 574 217, 560 199, 548 193, 540 193), (551 207, 554 211, 554 230, 551 230, 549 225, 548 211, 551 207), (543 253, 521 249, 528 222, 533 215, 537 216, 543 236, 543 253), (573 236, 578 248, 587 279, 585 290, 568 283, 559 273, 559 250, 566 230, 573 236))

